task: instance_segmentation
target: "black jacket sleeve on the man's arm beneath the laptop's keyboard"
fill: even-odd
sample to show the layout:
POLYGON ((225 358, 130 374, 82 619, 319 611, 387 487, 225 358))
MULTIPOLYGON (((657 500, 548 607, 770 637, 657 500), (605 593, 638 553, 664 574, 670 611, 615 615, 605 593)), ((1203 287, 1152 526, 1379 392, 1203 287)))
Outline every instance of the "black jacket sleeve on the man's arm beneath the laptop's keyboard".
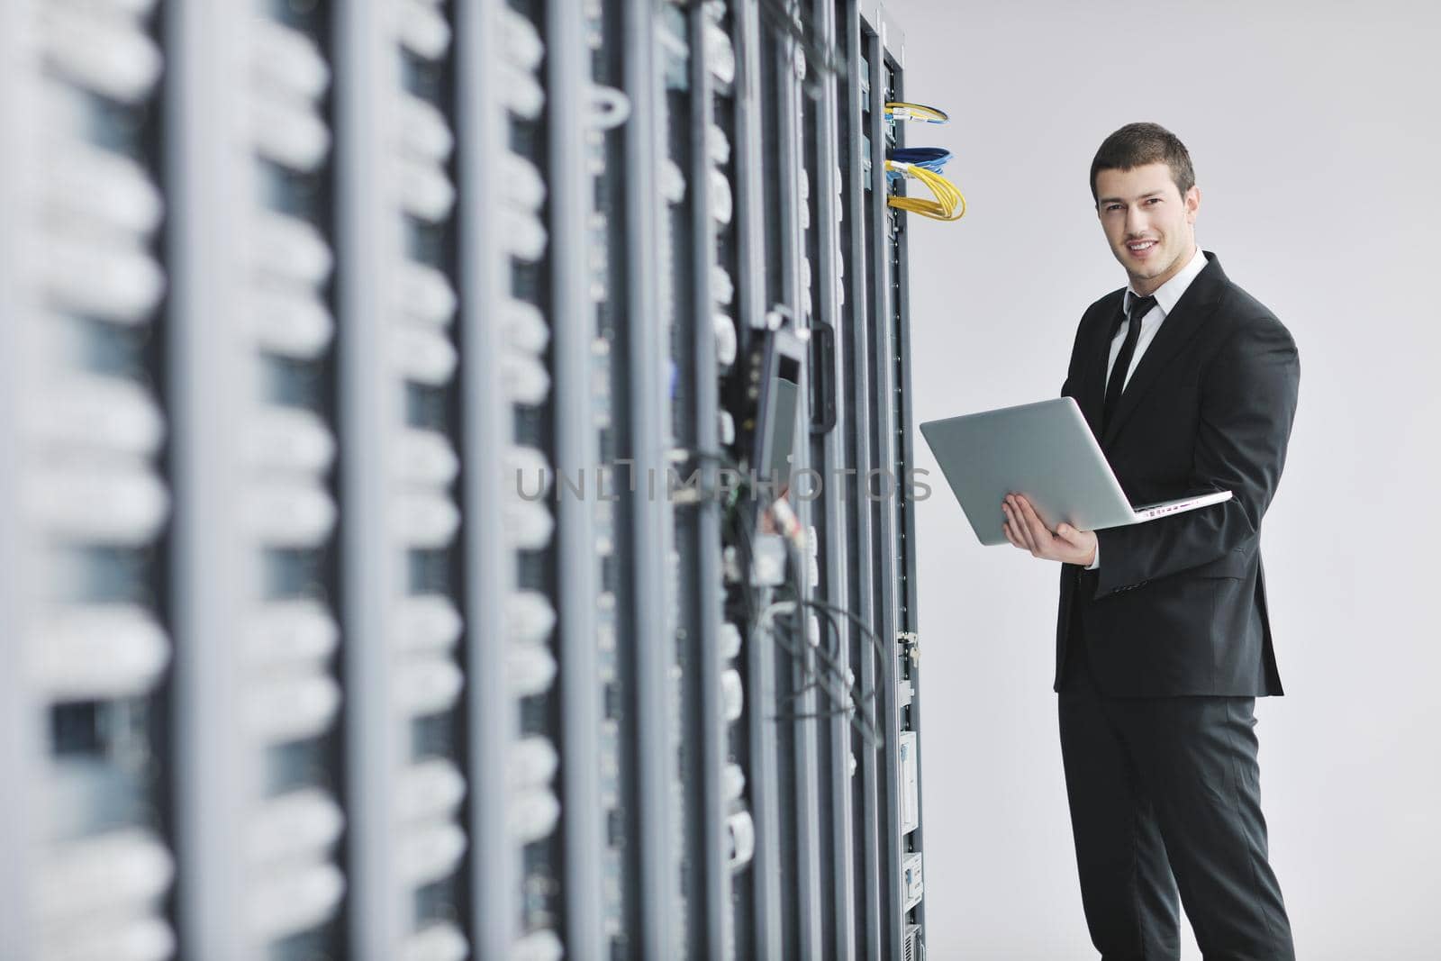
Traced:
POLYGON ((1189 487, 1229 490, 1223 504, 1097 532, 1105 563, 1097 596, 1138 586, 1244 550, 1275 496, 1295 419, 1301 366, 1274 317, 1248 317, 1200 382, 1200 424, 1189 487))

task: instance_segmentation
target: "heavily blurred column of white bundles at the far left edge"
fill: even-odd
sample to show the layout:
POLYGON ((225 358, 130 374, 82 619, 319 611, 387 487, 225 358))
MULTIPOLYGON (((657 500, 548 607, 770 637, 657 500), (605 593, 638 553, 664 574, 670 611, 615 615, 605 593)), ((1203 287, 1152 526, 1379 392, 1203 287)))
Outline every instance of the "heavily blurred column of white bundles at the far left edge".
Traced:
POLYGON ((0 13, 6 958, 169 958, 154 3, 0 13))

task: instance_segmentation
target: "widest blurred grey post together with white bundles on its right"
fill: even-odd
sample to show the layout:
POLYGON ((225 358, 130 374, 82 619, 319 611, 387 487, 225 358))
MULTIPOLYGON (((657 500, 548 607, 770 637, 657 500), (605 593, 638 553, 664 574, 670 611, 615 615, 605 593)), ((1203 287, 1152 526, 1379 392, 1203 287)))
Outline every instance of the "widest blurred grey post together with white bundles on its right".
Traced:
POLYGON ((329 22, 169 6, 182 954, 340 951, 329 22))

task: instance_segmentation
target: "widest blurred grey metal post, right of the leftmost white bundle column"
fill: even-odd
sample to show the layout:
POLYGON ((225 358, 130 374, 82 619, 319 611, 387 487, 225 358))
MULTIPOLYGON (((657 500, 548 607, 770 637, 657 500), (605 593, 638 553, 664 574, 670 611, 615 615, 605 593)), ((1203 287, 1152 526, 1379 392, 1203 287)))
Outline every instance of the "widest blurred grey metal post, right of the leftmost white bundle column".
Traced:
MULTIPOLYGON (((238 382, 236 285, 228 261, 245 251, 216 242, 239 222, 231 97, 238 55, 229 7, 179 0, 170 7, 170 393, 174 442, 174 729, 180 939, 195 957, 241 958, 244 888, 236 839, 255 795, 255 756, 241 738, 238 664, 242 620, 236 582, 233 464, 238 382), (231 68, 231 69, 226 69, 231 68)), ((242 235, 244 236, 244 235, 242 235)))

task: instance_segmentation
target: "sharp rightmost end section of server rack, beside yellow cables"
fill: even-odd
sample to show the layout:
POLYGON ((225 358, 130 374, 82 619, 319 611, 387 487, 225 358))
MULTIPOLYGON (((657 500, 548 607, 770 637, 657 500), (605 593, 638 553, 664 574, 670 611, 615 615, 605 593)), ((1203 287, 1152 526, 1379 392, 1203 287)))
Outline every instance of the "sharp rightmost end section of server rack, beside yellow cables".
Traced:
POLYGON ((836 3, 837 43, 847 62, 844 101, 837 112, 842 154, 842 243, 836 259, 837 294, 856 321, 837 337, 842 382, 839 416, 849 426, 843 461, 857 470, 860 490, 844 524, 856 553, 839 560, 849 572, 846 595, 870 638, 853 638, 862 686, 876 692, 876 745, 862 745, 852 801, 852 852, 862 879, 856 916, 865 957, 888 957, 904 945, 906 957, 924 954, 924 890, 919 831, 919 658, 914 604, 914 516, 909 510, 909 357, 906 314, 906 218, 888 206, 898 184, 883 176, 886 150, 902 147, 904 128, 886 102, 901 99, 904 35, 872 3, 836 3), (839 33, 844 32, 842 37, 839 33), (847 223, 849 220, 849 223, 847 223), (852 267, 846 271, 847 262, 852 267), (859 267, 860 269, 856 269, 859 267), (876 473, 879 471, 879 473, 876 473), (873 474, 876 473, 876 474, 873 474), (891 496, 870 497, 870 478, 889 478, 891 496), (885 657, 866 651, 876 643, 885 657), (914 777, 914 788, 902 779, 914 777), (911 880, 906 892, 906 880, 911 880))

